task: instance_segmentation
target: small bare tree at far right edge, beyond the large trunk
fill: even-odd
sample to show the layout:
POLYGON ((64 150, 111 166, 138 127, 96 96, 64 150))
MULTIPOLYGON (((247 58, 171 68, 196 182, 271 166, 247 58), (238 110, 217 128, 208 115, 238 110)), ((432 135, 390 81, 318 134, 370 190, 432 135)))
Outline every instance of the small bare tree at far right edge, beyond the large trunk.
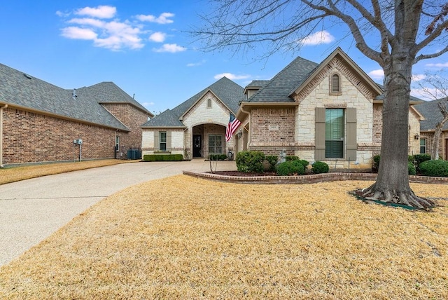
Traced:
POLYGON ((440 135, 444 124, 448 122, 448 79, 440 76, 442 72, 440 70, 439 74, 426 74, 423 82, 419 83, 421 95, 437 101, 437 107, 442 114, 442 119, 435 123, 434 128, 433 144, 430 151, 433 160, 439 159, 440 135))

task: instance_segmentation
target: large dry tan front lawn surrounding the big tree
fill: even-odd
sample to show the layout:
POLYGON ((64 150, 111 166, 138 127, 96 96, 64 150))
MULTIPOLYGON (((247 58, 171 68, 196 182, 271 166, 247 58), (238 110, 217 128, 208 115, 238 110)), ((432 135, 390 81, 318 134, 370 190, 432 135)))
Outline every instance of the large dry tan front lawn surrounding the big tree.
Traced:
POLYGON ((368 184, 139 184, 3 266, 0 299, 448 299, 448 200, 347 194, 368 184))

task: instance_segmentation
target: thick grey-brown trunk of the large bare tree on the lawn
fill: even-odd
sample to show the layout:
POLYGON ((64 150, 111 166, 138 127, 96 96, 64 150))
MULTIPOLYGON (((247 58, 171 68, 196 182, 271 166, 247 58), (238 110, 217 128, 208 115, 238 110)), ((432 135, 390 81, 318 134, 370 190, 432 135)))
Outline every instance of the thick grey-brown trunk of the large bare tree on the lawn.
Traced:
POLYGON ((367 198, 411 205, 432 207, 433 203, 415 196, 409 186, 407 170, 409 135, 409 95, 412 63, 405 51, 392 53, 384 68, 383 130, 381 159, 377 182, 364 192, 367 198))

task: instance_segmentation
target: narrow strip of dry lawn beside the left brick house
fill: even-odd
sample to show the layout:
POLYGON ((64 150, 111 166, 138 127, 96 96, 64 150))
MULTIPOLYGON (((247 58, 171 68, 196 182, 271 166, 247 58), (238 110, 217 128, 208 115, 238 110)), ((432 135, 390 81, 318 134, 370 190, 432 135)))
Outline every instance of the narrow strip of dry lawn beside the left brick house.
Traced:
POLYGON ((118 159, 103 159, 98 161, 80 161, 73 163, 45 163, 42 165, 24 165, 11 168, 0 168, 0 184, 18 182, 46 175, 60 174, 90 168, 104 167, 106 165, 117 165, 128 163, 118 159))

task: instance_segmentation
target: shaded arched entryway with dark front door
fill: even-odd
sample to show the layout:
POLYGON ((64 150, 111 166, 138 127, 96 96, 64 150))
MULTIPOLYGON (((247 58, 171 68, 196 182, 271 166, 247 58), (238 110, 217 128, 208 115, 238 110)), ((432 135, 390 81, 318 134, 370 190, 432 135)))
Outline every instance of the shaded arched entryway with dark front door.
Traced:
POLYGON ((227 154, 225 126, 219 124, 201 124, 193 126, 193 158, 208 158, 209 154, 227 154))

